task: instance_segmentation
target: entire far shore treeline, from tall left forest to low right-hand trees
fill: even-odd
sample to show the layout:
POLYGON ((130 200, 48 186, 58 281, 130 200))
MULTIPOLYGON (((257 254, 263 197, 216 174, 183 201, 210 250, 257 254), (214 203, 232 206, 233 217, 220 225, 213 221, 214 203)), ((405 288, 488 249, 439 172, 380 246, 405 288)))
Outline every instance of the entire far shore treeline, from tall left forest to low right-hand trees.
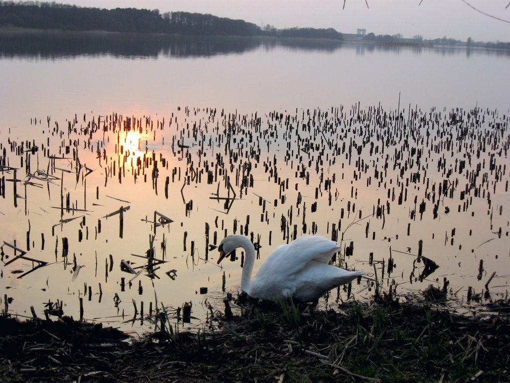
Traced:
MULTIPOLYGON (((1 1, 0 28, 25 28, 59 31, 104 31, 114 33, 156 33, 189 36, 270 36, 276 38, 329 39, 365 41, 377 44, 443 45, 470 48, 510 50, 510 42, 466 41, 446 36, 424 39, 420 35, 404 38, 396 35, 375 35, 374 33, 349 34, 333 28, 286 28, 277 29, 271 25, 258 26, 252 22, 218 17, 211 14, 190 12, 165 12, 158 9, 86 8, 68 4, 43 3, 37 1, 1 1)), ((358 31, 359 33, 359 31, 358 31)))

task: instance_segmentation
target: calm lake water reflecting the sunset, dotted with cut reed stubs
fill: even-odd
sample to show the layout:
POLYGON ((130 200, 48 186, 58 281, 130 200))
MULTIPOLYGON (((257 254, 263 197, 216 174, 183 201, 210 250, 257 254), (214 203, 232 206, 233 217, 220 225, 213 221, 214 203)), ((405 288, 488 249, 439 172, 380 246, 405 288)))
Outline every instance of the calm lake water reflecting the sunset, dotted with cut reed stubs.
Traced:
MULTIPOLYGON (((234 231, 259 242, 258 262, 294 235, 337 237, 352 243, 349 268, 373 279, 375 266, 384 290, 394 280, 402 296, 446 278, 465 301, 493 272, 488 299, 506 295, 508 55, 232 39, 0 41, 9 166, 0 241, 27 251, 5 265, 20 253, 3 246, 9 312, 31 316, 33 305, 42 317, 45 303, 63 302, 78 318, 82 298, 85 319, 138 331, 150 326, 150 305, 174 313, 192 302, 199 319, 186 326, 199 327, 209 304, 222 309, 223 273, 225 291, 238 290, 240 259, 215 265, 214 244, 234 231), (107 217, 127 207, 122 225, 120 214, 107 217), (155 211, 173 222, 155 226, 155 211), (420 241, 438 269, 417 261, 420 241), (39 261, 47 264, 33 270, 39 261)), ((370 284, 353 285, 354 297, 372 295, 370 284)), ((335 290, 328 304, 346 299, 335 290)))

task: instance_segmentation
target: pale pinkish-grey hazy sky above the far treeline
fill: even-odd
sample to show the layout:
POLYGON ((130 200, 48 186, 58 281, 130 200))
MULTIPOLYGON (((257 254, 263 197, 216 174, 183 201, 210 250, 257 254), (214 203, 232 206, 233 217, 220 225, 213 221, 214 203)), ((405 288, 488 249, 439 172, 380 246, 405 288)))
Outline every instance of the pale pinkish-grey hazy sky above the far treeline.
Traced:
POLYGON ((401 33, 403 37, 422 35, 425 39, 446 36, 458 40, 471 37, 475 41, 510 41, 510 0, 345 0, 345 8, 344 0, 63 0, 57 3, 107 9, 159 9, 161 13, 210 13, 259 26, 270 24, 278 29, 334 28, 343 33, 356 33, 356 29, 365 28, 367 33, 376 35, 401 33))

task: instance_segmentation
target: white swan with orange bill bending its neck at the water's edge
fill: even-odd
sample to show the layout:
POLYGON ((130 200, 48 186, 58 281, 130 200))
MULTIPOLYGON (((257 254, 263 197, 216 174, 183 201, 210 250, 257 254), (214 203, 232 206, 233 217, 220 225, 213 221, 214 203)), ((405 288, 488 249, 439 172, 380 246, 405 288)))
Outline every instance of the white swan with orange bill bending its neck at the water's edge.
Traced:
POLYGON ((319 235, 304 235, 288 245, 278 246, 251 278, 256 258, 251 241, 238 234, 228 235, 218 246, 218 264, 237 248, 245 251, 241 289, 252 298, 279 301, 317 301, 326 291, 349 283, 364 271, 347 271, 329 265, 340 247, 319 235))

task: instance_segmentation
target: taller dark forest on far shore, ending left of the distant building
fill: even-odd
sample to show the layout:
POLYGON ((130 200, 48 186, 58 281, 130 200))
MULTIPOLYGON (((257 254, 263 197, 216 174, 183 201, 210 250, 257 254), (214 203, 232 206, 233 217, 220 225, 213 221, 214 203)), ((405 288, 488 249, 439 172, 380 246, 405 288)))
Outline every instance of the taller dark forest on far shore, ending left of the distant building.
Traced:
POLYGON ((210 36, 275 36, 341 40, 332 28, 261 28, 244 20, 210 14, 166 12, 136 8, 82 8, 57 3, 0 1, 0 26, 58 29, 66 31, 107 31, 124 33, 165 33, 210 36))

